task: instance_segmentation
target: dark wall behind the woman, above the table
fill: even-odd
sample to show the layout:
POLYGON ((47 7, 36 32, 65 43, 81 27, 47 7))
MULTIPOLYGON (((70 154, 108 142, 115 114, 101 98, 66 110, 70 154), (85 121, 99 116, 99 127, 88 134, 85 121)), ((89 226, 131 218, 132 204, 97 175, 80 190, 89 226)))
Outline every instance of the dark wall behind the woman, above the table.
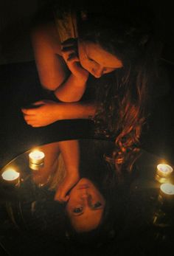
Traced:
MULTIPOLYGON (((2 0, 0 2, 0 63, 32 60, 29 27, 33 16, 44 6, 61 0, 2 0)), ((66 3, 67 1, 63 1, 66 3)), ((78 1, 75 0, 75 2, 78 1)), ((88 1, 90 2, 90 1, 88 1)), ((102 1, 100 1, 101 4, 102 1)), ((111 2, 111 1, 110 1, 111 2)), ((118 1, 119 2, 119 1, 118 1)), ((124 2, 124 1, 122 1, 124 2)), ((156 35, 162 44, 162 57, 174 60, 173 1, 131 1, 147 4, 156 17, 156 35)), ((81 3, 81 1, 79 1, 81 3)), ((125 7, 128 1, 125 1, 125 7)), ((97 6, 97 1, 93 1, 97 6)), ((111 3, 110 3, 111 4, 111 3)), ((116 1, 114 1, 116 4, 116 1)))

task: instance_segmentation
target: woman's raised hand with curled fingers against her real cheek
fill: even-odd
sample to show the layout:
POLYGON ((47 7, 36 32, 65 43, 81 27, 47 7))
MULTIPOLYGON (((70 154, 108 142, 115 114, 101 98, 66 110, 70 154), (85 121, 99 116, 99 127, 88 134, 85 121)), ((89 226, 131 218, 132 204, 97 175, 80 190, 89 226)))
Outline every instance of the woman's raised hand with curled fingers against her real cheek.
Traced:
POLYGON ((62 56, 74 77, 83 81, 88 80, 88 71, 80 65, 77 39, 69 38, 62 43, 62 56))

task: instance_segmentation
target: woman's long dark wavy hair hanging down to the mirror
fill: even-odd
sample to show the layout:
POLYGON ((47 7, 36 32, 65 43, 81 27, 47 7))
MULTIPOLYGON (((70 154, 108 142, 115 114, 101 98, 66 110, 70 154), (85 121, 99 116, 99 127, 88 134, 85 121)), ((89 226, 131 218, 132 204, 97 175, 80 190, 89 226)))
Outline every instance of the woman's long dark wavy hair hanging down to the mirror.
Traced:
POLYGON ((106 156, 116 170, 131 170, 139 155, 139 140, 147 117, 150 78, 156 70, 153 15, 131 5, 81 12, 81 41, 99 44, 122 60, 123 68, 96 80, 96 134, 114 138, 115 150, 106 156))

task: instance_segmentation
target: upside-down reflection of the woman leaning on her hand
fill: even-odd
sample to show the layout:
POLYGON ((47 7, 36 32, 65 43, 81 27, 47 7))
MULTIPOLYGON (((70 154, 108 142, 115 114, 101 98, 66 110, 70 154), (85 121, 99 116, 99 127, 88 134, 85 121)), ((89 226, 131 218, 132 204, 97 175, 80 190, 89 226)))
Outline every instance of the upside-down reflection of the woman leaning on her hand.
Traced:
POLYGON ((32 171, 32 180, 38 187, 55 191, 55 201, 64 203, 66 236, 71 239, 80 242, 83 234, 88 242, 96 243, 94 236, 106 240, 107 232, 114 234, 104 229, 109 210, 114 212, 109 201, 114 196, 115 172, 104 157, 113 147, 112 142, 69 140, 38 148, 46 157, 44 167, 32 171))

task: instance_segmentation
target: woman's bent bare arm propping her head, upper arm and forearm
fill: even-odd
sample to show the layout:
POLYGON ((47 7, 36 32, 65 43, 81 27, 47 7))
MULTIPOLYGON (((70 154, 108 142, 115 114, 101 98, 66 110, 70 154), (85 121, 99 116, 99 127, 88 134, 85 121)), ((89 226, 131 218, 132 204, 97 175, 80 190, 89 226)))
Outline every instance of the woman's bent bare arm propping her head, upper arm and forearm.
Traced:
POLYGON ((63 60, 55 25, 45 24, 32 30, 32 46, 44 88, 55 91, 55 96, 63 102, 80 100, 86 90, 88 74, 76 59, 70 62, 63 60), (69 70, 72 72, 70 75, 69 70))

